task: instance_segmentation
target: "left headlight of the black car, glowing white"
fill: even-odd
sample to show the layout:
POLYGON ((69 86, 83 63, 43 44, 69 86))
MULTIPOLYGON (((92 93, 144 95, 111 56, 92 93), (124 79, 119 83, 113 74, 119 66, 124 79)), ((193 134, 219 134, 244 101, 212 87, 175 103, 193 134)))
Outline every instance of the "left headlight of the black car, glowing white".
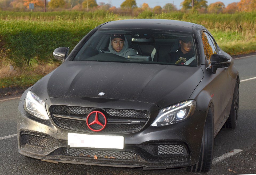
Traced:
POLYGON ((46 111, 45 102, 31 91, 28 91, 25 98, 24 109, 27 113, 43 120, 50 119, 46 111))

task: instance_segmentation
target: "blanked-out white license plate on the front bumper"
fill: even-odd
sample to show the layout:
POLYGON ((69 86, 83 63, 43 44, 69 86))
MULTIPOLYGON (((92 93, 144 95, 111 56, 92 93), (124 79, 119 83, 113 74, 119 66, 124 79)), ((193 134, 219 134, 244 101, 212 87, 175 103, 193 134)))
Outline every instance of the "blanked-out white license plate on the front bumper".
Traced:
POLYGON ((113 135, 87 135, 69 133, 67 142, 70 147, 123 149, 124 138, 123 136, 113 135))

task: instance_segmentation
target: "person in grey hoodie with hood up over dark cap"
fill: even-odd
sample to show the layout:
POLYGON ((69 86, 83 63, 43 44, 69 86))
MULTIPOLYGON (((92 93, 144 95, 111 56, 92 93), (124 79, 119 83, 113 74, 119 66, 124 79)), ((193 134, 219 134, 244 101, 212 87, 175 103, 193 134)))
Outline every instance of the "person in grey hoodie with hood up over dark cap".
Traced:
POLYGON ((113 34, 109 41, 109 52, 114 53, 122 57, 128 57, 128 55, 137 55, 136 51, 129 48, 128 42, 123 34, 113 34))

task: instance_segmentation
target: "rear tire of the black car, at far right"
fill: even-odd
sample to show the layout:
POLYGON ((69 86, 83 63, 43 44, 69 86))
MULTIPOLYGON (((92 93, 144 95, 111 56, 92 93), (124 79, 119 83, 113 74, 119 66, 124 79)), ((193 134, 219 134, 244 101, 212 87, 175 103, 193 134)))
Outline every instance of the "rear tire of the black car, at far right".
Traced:
POLYGON ((229 118, 224 124, 225 128, 232 128, 232 129, 235 128, 235 126, 237 125, 238 111, 239 111, 239 85, 238 85, 238 82, 236 81, 229 118))

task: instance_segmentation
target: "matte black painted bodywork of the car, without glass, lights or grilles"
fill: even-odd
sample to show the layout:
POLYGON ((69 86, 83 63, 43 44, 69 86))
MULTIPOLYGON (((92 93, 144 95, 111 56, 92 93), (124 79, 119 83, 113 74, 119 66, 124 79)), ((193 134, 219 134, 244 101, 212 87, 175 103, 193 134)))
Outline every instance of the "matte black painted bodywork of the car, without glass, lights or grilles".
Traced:
MULTIPOLYGON (((186 167, 198 163, 203 130, 210 105, 213 106, 214 132, 217 135, 226 122, 234 92, 238 71, 232 58, 219 47, 218 54, 229 56, 231 65, 218 68, 216 74, 206 68, 201 32, 206 28, 194 23, 174 20, 135 19, 107 22, 89 32, 73 49, 67 59, 53 72, 41 78, 27 89, 19 103, 17 120, 18 150, 22 155, 37 159, 50 159, 65 163, 150 168, 186 167), (98 29, 143 28, 179 31, 193 34, 197 67, 120 63, 103 61, 72 61, 82 45, 98 29), (31 90, 46 103, 49 120, 36 118, 24 110, 27 92, 31 90), (104 92, 104 96, 99 96, 104 92), (192 116, 182 122, 167 126, 153 127, 151 124, 159 110, 170 105, 194 99, 197 103, 192 116), (72 105, 93 108, 138 109, 150 112, 150 118, 140 131, 124 136, 124 150, 136 152, 147 161, 119 161, 115 159, 73 160, 51 155, 53 149, 69 148, 67 134, 76 132, 54 123, 49 110, 51 105, 72 105), (21 145, 21 135, 29 134, 57 140, 49 148, 36 152, 35 147, 21 145), (145 151, 139 152, 139 145, 178 144, 186 148, 188 157, 150 157, 145 151), (52 148, 52 149, 51 149, 52 148), (42 151, 44 150, 44 151, 42 151)), ((209 33, 209 32, 208 32, 209 33)), ((209 33, 210 35, 210 33, 209 33)), ((211 36, 211 35, 210 35, 211 36)), ((102 55, 102 57, 104 54, 102 55)), ((239 82, 238 82, 239 84, 239 82)), ((85 116, 86 117, 86 116, 85 116)), ((83 134, 83 133, 81 133, 83 134)), ((101 134, 96 132, 94 134, 101 134)))

